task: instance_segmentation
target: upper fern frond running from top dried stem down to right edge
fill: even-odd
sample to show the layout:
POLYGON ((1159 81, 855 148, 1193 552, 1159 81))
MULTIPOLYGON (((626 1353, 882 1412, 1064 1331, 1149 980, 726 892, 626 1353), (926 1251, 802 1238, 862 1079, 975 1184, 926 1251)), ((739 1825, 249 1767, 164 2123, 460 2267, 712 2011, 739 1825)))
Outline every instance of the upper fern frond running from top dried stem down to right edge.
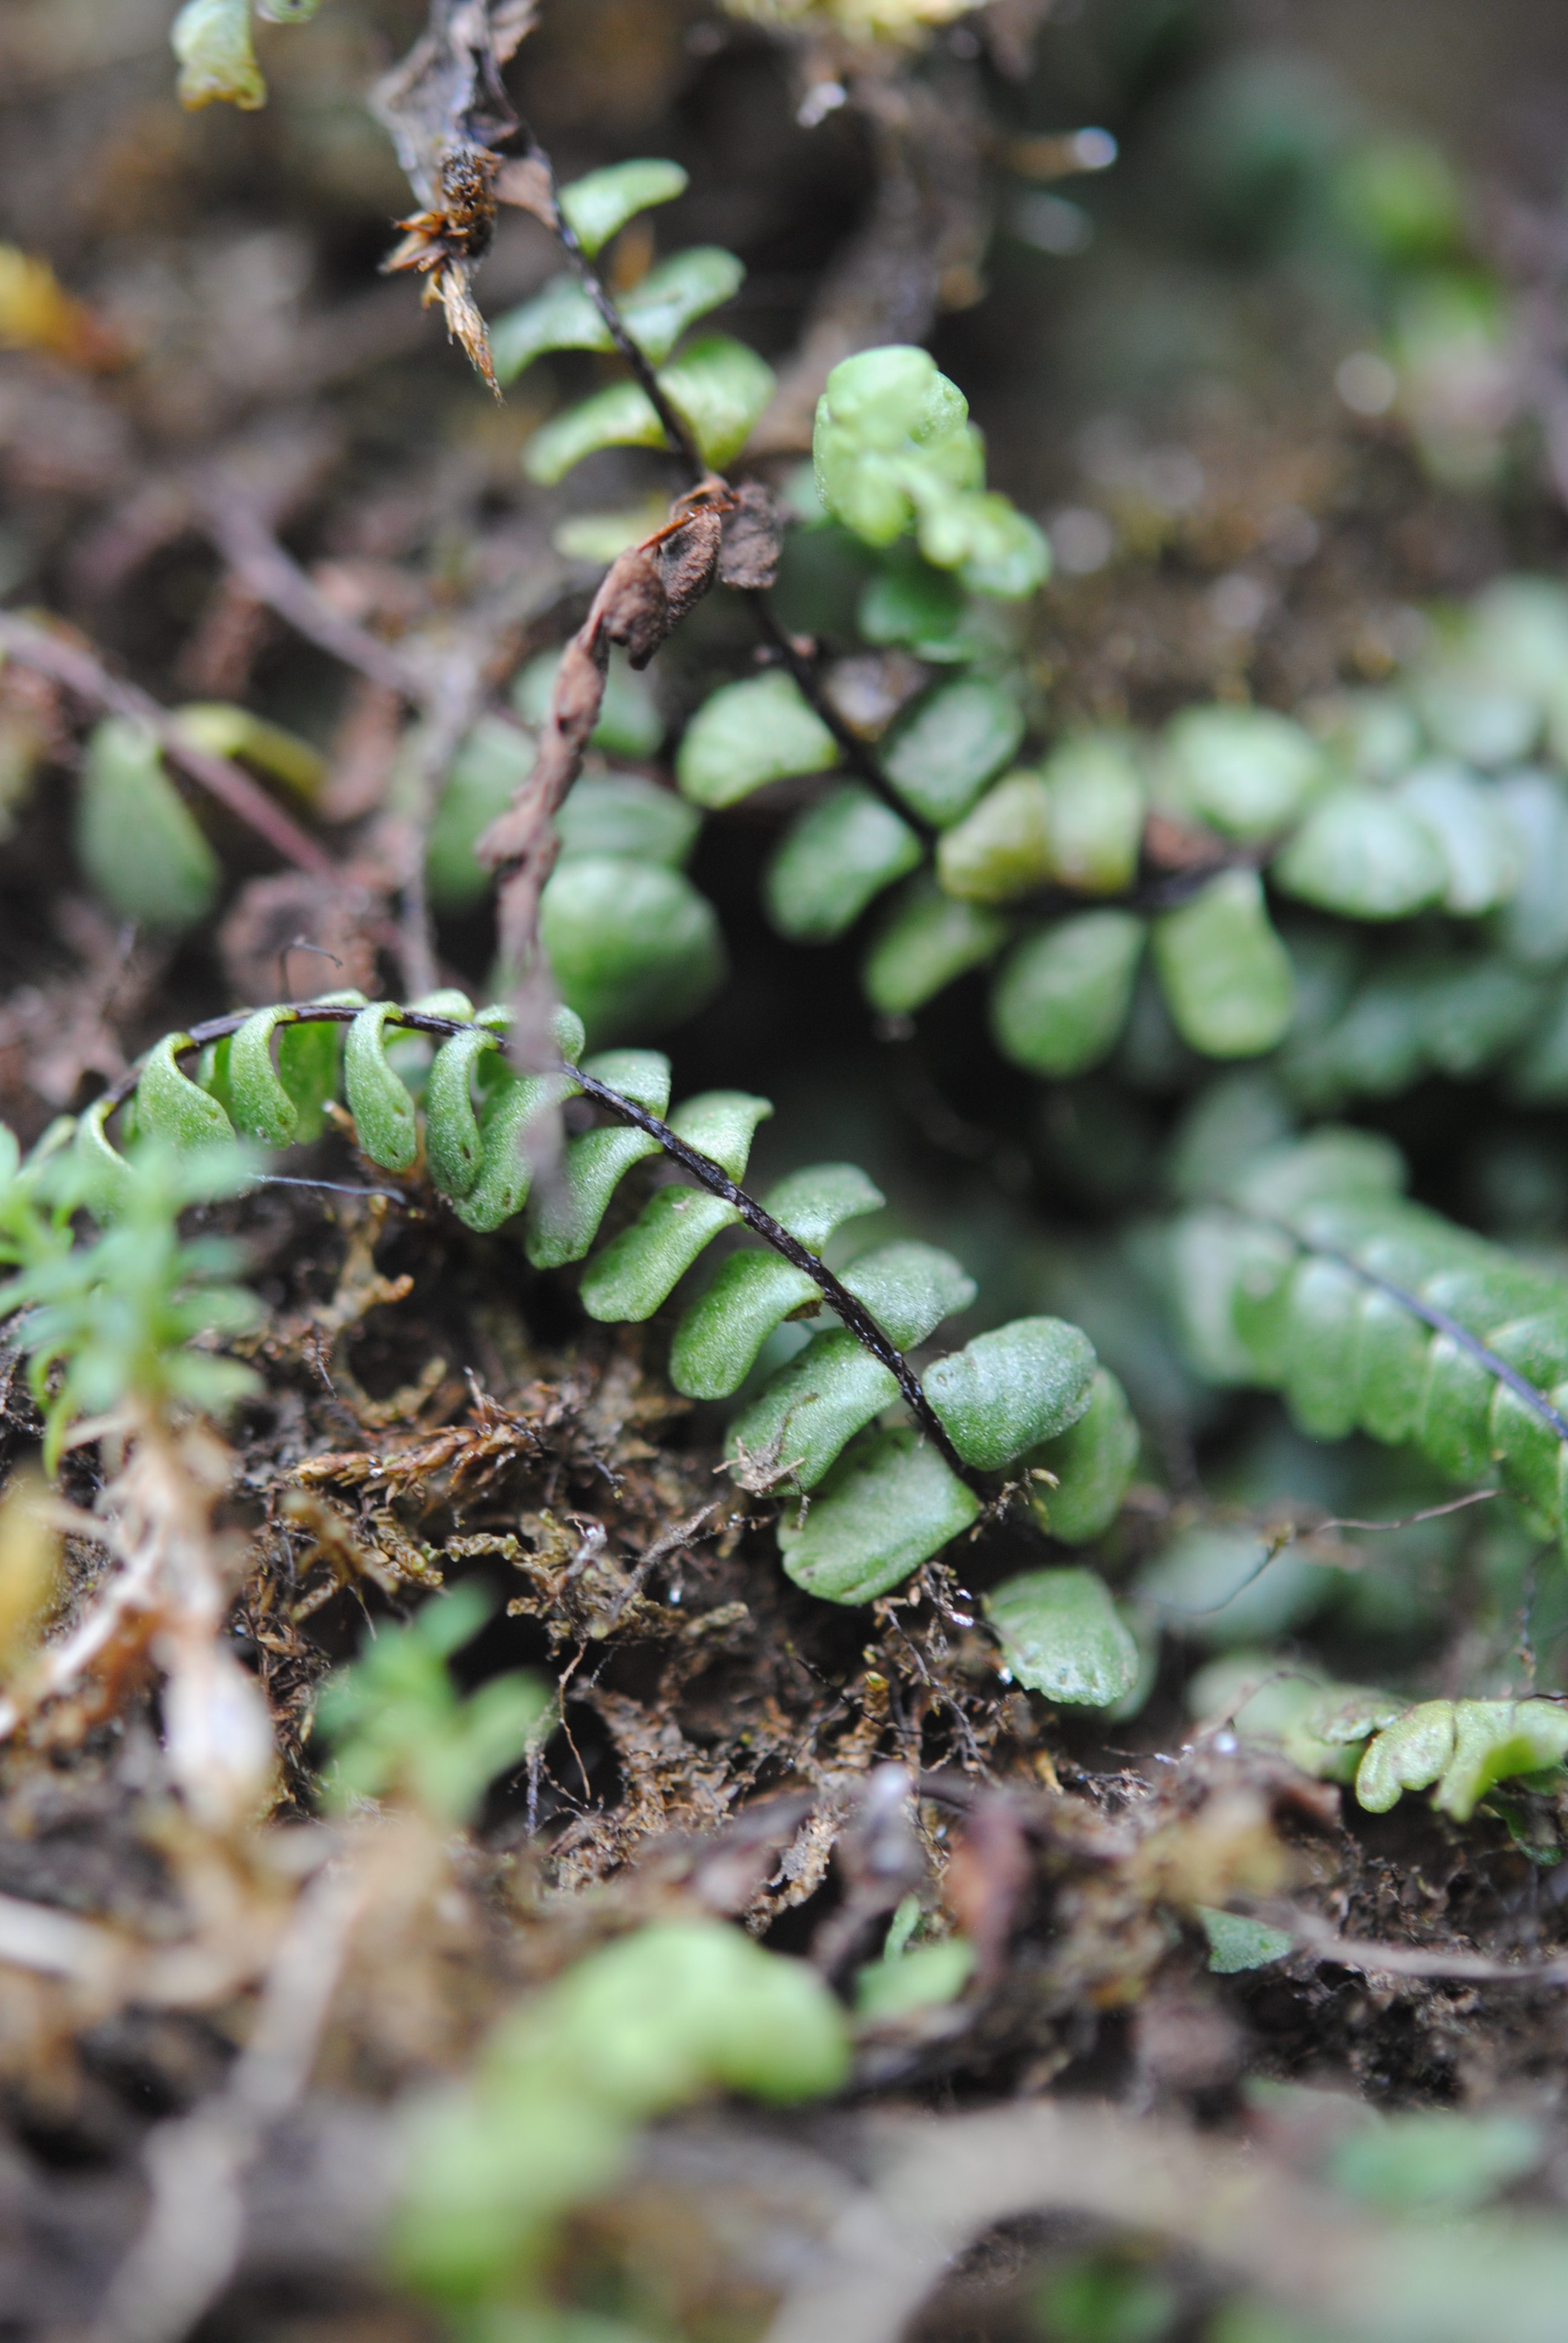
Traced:
MULTIPOLYGON (((563 190, 563 209, 577 204, 595 223, 591 237, 600 183, 607 234, 640 204, 680 192, 684 176, 638 162, 579 183, 581 197, 563 190)), ((673 335, 738 281, 729 253, 675 253, 628 295, 621 326, 661 361, 673 335)), ((495 342, 502 370, 516 373, 546 349, 609 349, 614 335, 602 307, 563 276, 497 321, 495 342)), ((670 401, 680 408, 675 387, 670 401)), ((682 415, 708 462, 729 459, 698 403, 682 415)), ((647 394, 628 382, 546 424, 527 462, 560 478, 595 445, 661 436, 647 394)), ((1305 722, 1200 705, 1160 738, 1083 731, 1017 764, 1041 705, 996 614, 1034 593, 1048 548, 982 480, 963 398, 923 351, 865 351, 834 370, 813 485, 797 494, 806 537, 820 539, 806 574, 825 560, 834 588, 827 604, 806 588, 802 616, 827 616, 834 633, 830 604, 848 579, 860 642, 919 661, 928 682, 914 698, 905 684, 902 705, 895 696, 860 708, 865 686, 846 670, 818 689, 780 665, 722 684, 687 722, 677 785, 708 815, 778 780, 834 776, 771 858, 771 923, 792 942, 825 944, 886 897, 863 963, 870 1003, 909 1015, 966 970, 996 963, 991 1036, 1048 1080, 1113 1052, 1148 961, 1191 1050, 1209 1059, 1280 1050, 1303 1104, 1388 1092, 1430 1068, 1470 1075, 1509 1052, 1519 1092, 1554 1097, 1568 1054, 1540 972, 1542 921, 1495 914, 1547 895, 1533 872, 1561 785, 1519 764, 1542 731, 1559 733, 1561 588, 1493 588, 1404 689, 1320 703, 1305 722), (1184 836, 1195 869, 1146 867, 1151 815, 1184 836), (1343 942, 1329 951, 1291 904, 1329 914, 1343 942), (1392 961, 1369 961, 1359 944, 1369 930, 1432 914, 1488 921, 1493 949, 1455 975, 1425 928, 1392 961)), ((623 534, 640 525, 628 520, 623 534)), ((607 534, 602 551, 614 541, 607 534)))

